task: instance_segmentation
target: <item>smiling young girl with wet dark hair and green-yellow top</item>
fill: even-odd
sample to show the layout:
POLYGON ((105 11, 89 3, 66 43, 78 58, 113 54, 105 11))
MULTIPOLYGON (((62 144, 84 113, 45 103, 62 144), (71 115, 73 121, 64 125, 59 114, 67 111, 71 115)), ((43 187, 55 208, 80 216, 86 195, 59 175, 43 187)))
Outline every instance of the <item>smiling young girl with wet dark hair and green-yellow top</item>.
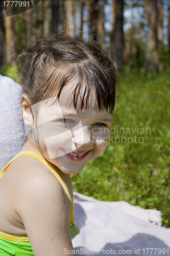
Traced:
POLYGON ((116 68, 96 42, 61 37, 21 57, 28 140, 0 173, 0 255, 74 255, 70 174, 106 148, 116 68))

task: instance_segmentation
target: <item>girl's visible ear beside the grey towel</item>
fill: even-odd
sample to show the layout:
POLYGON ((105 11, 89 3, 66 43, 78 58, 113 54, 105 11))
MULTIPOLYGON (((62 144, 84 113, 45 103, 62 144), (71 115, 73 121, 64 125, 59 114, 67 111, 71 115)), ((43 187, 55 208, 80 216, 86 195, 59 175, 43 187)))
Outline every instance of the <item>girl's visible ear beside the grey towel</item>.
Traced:
POLYGON ((31 113, 31 104, 30 98, 26 93, 23 93, 20 97, 20 104, 21 104, 21 115, 22 119, 26 125, 33 126, 33 115, 31 113))

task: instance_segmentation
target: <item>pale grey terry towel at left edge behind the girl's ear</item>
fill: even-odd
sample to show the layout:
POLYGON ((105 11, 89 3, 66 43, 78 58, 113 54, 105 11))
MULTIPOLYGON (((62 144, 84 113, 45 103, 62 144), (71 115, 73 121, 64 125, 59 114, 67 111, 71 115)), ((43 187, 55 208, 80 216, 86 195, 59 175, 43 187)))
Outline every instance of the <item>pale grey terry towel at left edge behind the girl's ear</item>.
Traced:
POLYGON ((0 75, 0 170, 25 143, 25 128, 20 113, 21 86, 0 75))

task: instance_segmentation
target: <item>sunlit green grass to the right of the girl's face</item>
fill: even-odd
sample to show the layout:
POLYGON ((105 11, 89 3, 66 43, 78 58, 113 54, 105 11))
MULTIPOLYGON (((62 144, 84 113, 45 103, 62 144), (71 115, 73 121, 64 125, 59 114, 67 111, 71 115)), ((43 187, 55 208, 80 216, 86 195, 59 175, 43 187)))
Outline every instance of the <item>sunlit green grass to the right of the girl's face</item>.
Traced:
POLYGON ((111 135, 101 156, 72 175, 74 191, 160 210, 163 226, 170 227, 170 72, 125 70, 119 80, 112 124, 118 134, 111 135), (125 134, 123 129, 119 133, 121 127, 125 134), (128 134, 130 129, 134 134, 128 134), (121 136, 133 142, 124 138, 122 143, 121 136))

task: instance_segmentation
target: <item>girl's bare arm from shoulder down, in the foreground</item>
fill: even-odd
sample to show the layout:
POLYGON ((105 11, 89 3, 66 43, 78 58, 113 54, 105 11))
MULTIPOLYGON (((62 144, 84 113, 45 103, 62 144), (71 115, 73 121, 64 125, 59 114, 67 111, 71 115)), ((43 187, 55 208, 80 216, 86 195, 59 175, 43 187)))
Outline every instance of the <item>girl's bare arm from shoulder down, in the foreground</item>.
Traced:
POLYGON ((19 198, 17 214, 34 255, 61 256, 68 250, 72 252, 68 198, 61 184, 54 175, 37 167, 26 177, 15 192, 19 198))

